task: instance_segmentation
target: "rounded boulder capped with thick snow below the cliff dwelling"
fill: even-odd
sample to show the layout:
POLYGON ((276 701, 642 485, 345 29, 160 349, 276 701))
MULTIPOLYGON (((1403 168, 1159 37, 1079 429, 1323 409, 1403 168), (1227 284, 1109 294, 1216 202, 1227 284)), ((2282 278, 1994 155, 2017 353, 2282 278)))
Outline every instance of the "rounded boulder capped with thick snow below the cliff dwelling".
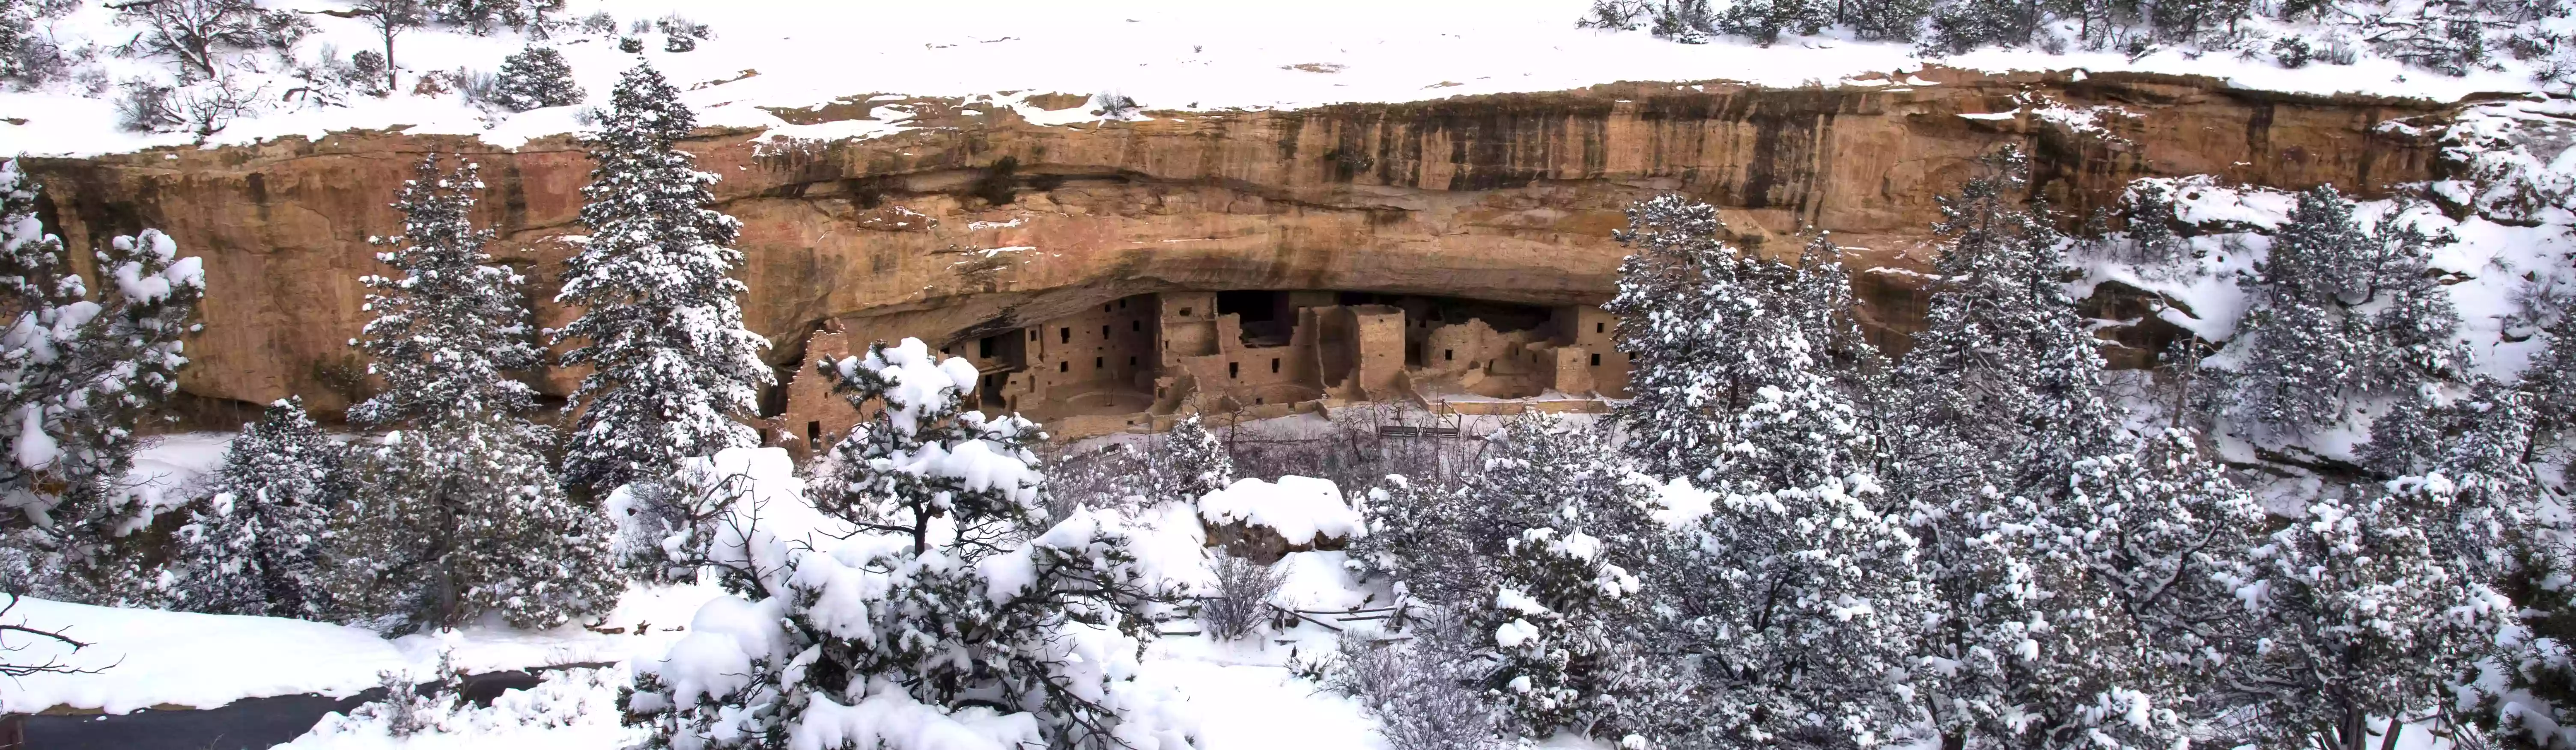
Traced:
POLYGON ((1208 546, 1236 557, 1278 562, 1288 552, 1342 549, 1368 534, 1360 510, 1342 503, 1342 487, 1316 477, 1234 479, 1198 497, 1208 546))

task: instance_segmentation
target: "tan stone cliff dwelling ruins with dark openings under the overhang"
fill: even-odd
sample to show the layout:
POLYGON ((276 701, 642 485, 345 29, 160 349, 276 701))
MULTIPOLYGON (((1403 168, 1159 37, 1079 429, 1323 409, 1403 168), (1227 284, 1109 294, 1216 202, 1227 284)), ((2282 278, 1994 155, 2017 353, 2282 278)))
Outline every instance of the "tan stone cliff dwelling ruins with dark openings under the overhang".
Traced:
MULTIPOLYGON (((987 327, 989 330, 989 327, 987 327)), ((1368 291, 1162 291, 940 345, 981 371, 976 405, 1059 438, 1162 430, 1198 412, 1278 418, 1350 402, 1597 399, 1628 394, 1615 320, 1535 307, 1368 291)), ((804 361, 863 353, 837 322, 804 361)), ((814 451, 858 412, 799 369, 773 443, 814 451)))

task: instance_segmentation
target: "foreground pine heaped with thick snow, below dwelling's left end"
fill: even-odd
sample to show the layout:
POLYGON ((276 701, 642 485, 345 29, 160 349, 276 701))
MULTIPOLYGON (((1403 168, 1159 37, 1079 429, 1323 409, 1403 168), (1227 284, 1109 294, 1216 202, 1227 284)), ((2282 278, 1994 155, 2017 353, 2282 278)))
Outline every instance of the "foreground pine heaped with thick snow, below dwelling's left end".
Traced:
MULTIPOLYGON (((1036 425, 966 410, 974 366, 920 340, 819 369, 878 410, 811 503, 768 472, 708 526, 698 554, 732 595, 636 668, 626 709, 652 747, 1193 747, 1133 683, 1164 582, 1115 513, 1043 526, 1036 425)), ((742 448, 716 464, 770 459, 783 466, 742 448)))

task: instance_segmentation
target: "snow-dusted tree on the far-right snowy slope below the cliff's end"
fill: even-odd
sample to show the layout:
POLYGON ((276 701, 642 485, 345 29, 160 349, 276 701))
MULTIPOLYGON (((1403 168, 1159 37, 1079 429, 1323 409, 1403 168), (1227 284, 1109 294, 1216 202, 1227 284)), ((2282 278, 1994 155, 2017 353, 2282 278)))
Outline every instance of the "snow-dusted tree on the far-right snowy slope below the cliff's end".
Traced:
POLYGON ((2246 281, 2233 412, 2298 436, 2344 423, 2354 399, 2455 376, 2460 314, 2424 268, 2447 242, 2403 219, 2365 227, 2334 186, 2300 193, 2246 281))

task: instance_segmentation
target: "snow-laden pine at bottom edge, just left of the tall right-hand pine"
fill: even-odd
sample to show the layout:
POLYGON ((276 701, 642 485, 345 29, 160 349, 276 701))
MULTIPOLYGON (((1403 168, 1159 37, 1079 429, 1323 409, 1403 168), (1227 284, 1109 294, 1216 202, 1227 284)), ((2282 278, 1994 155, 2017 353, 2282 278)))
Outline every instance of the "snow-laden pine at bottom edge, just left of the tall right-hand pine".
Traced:
POLYGON ((1659 652, 1695 665, 1680 747, 1875 747, 1917 722, 1909 660, 1929 590, 1901 515, 1868 472, 1850 397, 1772 332, 1780 384, 1734 418, 1718 503, 1646 580, 1672 631, 1659 652))

